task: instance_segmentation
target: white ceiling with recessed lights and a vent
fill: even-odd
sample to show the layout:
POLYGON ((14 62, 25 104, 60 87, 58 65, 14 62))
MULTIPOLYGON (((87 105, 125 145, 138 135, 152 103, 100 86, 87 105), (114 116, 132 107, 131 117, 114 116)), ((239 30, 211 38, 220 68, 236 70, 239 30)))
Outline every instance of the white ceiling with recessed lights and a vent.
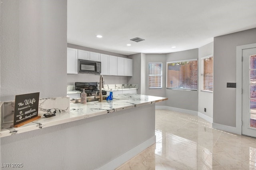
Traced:
POLYGON ((256 28, 255 8, 256 0, 68 0, 67 40, 124 55, 183 51, 256 28))

